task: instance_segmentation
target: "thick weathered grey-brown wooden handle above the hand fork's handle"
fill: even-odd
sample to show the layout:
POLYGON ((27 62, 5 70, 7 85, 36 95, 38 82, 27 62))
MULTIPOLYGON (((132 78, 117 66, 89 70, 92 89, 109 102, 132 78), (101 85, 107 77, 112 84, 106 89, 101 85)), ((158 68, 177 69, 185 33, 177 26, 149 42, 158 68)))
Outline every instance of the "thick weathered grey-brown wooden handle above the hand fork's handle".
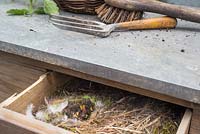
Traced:
POLYGON ((154 12, 174 18, 200 23, 200 9, 168 4, 156 0, 105 0, 111 6, 126 9, 154 12))

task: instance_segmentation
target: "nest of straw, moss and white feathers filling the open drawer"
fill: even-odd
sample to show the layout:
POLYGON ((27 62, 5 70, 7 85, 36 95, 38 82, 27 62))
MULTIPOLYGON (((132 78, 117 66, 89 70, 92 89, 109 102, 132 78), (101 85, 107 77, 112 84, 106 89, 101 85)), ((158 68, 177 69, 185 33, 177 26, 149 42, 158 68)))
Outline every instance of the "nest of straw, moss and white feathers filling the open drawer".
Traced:
POLYGON ((79 134, 175 134, 184 108, 85 80, 65 84, 32 113, 79 134))

